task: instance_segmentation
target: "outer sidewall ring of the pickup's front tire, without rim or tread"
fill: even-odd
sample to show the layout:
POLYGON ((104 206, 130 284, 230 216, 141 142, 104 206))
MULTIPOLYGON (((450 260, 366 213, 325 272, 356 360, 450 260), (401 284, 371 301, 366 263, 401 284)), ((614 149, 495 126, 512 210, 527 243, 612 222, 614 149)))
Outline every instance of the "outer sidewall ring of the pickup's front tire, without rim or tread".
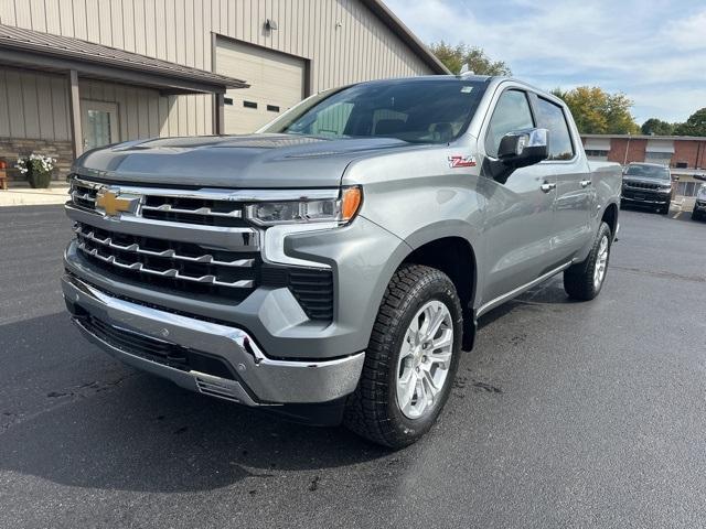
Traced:
POLYGON ((421 434, 428 431, 437 420, 437 417, 443 409, 446 401, 451 392, 453 379, 458 370, 458 364, 461 356, 461 333, 462 333, 462 315, 461 306, 456 293, 456 289, 450 280, 445 278, 436 278, 421 287, 420 290, 413 291, 409 295, 410 303, 406 303, 405 314, 399 319, 395 330, 394 339, 392 341, 388 359, 387 387, 389 395, 387 399, 388 417, 393 419, 393 425, 397 430, 400 438, 408 438, 414 442, 421 434), (397 404, 397 364, 402 354, 402 344, 405 334, 413 317, 417 314, 421 306, 429 301, 440 301, 443 303, 451 314, 453 322, 453 347, 451 356, 451 365, 443 382, 443 388, 438 393, 438 398, 432 406, 431 412, 425 413, 418 419, 409 419, 406 417, 397 404))

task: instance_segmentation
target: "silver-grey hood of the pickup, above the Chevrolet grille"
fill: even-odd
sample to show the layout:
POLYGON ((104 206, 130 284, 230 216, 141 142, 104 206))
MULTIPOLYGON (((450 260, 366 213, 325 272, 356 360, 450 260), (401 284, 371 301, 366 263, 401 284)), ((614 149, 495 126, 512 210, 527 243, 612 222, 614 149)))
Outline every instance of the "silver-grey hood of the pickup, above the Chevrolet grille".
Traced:
POLYGON ((338 186, 351 161, 414 149, 392 138, 249 134, 139 140, 88 151, 74 171, 115 182, 197 187, 338 186))

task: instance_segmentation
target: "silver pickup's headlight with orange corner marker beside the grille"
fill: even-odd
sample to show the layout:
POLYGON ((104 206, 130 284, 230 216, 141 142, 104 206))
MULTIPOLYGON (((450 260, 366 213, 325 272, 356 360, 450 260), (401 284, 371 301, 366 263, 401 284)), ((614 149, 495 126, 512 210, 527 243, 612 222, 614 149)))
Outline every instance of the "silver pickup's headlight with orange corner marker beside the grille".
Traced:
MULTIPOLYGON (((292 192, 295 193, 295 192, 292 192)), ((260 226, 309 223, 350 223, 357 213, 363 194, 361 187, 344 187, 338 196, 320 198, 317 192, 308 197, 307 192, 297 191, 303 198, 277 202, 258 202, 245 208, 245 217, 260 226)))

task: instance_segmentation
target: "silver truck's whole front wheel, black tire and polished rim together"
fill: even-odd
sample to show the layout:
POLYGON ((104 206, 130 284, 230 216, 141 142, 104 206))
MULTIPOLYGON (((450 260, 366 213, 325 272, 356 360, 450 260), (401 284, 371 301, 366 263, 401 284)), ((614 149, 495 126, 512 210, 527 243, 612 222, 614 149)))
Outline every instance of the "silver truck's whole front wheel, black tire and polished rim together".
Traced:
POLYGON ((451 390, 461 314, 456 288, 443 272, 419 264, 397 270, 381 303, 345 425, 392 449, 421 438, 451 390))

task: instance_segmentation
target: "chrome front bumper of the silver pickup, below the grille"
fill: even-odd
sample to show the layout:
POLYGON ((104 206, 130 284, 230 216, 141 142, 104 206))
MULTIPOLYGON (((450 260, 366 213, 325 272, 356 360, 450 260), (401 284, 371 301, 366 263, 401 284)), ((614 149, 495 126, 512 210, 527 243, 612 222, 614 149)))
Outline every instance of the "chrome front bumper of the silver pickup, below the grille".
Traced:
POLYGON ((212 397, 252 407, 330 402, 353 392, 363 368, 364 353, 328 360, 272 359, 240 328, 118 299, 71 274, 62 278, 62 290, 74 323, 107 353, 212 397), (92 321, 108 333, 97 333, 89 325, 92 321), (106 337, 114 335, 121 337, 106 337), (159 355, 146 355, 142 343, 148 344, 142 348, 147 350, 157 345, 158 349, 173 347, 186 355, 197 352, 225 364, 232 376, 188 365, 174 367, 159 355))

